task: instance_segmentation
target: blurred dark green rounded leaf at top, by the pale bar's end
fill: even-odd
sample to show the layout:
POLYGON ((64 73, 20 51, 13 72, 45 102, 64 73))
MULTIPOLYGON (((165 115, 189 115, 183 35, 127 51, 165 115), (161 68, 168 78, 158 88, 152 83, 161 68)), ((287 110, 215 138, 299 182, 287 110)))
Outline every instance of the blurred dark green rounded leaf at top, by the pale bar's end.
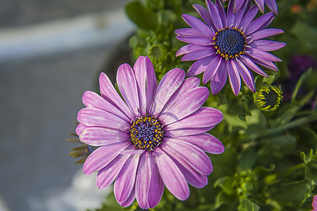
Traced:
POLYGON ((125 13, 144 30, 155 30, 159 25, 159 15, 149 10, 141 1, 129 1, 125 4, 125 13))

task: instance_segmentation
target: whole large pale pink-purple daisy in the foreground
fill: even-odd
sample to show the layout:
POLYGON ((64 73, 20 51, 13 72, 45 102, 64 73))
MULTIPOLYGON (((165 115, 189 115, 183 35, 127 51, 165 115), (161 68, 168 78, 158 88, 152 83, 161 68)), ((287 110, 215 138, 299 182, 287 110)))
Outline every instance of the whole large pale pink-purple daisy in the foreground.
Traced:
POLYGON ((155 207, 164 186, 179 200, 189 196, 188 184, 202 188, 213 167, 207 153, 223 153, 223 144, 208 134, 223 115, 201 107, 209 96, 197 77, 185 78, 175 68, 157 86, 151 60, 139 57, 133 66, 120 65, 117 84, 101 73, 101 96, 86 91, 87 106, 77 115, 80 141, 99 146, 85 161, 85 174, 98 171, 97 186, 114 181, 122 206, 137 198, 143 209, 155 207), (116 180, 116 181, 115 181, 116 180))

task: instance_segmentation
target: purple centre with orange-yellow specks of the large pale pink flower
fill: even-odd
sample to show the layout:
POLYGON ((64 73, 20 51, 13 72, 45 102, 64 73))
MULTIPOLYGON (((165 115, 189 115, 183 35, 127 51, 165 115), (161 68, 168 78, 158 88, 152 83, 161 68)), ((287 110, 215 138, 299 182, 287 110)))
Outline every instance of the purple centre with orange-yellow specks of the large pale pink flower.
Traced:
POLYGON ((153 151, 163 141, 164 131, 154 117, 137 117, 131 122, 131 142, 136 149, 153 151))

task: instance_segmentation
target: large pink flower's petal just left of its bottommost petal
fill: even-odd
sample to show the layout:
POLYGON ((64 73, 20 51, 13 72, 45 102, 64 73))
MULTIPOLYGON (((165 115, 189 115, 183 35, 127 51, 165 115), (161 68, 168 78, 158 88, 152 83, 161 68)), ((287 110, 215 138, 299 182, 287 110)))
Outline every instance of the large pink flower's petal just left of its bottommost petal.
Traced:
POLYGON ((137 166, 139 164, 139 155, 131 155, 120 170, 113 186, 113 193, 118 202, 128 200, 137 177, 137 166))

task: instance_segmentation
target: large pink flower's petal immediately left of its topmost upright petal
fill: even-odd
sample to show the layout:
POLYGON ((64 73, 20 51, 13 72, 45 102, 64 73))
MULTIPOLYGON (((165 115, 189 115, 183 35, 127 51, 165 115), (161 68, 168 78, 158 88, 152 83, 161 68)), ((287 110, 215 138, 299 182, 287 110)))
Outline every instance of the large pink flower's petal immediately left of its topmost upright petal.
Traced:
POLYGON ((139 95, 135 74, 127 63, 120 65, 117 72, 117 84, 125 103, 135 116, 139 116, 139 95))

